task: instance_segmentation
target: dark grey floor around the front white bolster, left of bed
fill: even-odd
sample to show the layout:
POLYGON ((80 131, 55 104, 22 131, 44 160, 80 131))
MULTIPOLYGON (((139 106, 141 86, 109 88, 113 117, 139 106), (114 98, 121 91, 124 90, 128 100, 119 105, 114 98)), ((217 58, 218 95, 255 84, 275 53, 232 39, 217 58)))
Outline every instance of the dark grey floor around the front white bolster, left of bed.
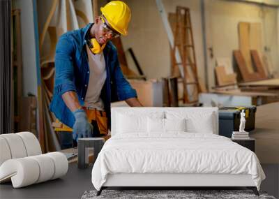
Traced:
POLYGON ((33 184, 20 189, 13 189, 10 182, 0 184, 0 198, 81 198, 84 191, 93 189, 91 170, 92 166, 78 169, 77 163, 70 163, 68 173, 61 179, 33 184))

